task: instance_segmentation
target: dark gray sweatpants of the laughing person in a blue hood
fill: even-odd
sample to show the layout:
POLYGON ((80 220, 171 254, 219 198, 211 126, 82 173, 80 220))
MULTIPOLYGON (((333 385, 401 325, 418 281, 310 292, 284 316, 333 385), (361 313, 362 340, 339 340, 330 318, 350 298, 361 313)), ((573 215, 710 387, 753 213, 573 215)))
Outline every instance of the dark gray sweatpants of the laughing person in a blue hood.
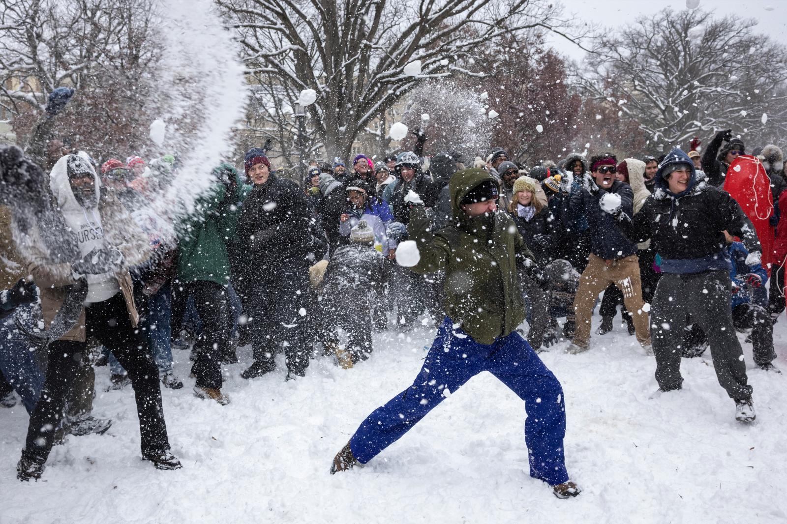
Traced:
POLYGON ((650 312, 650 336, 656 354, 656 382, 669 391, 681 387, 681 356, 686 313, 708 334, 719 384, 733 399, 752 396, 746 379, 741 343, 730 308, 730 275, 704 271, 693 275, 667 273, 656 286, 650 312))

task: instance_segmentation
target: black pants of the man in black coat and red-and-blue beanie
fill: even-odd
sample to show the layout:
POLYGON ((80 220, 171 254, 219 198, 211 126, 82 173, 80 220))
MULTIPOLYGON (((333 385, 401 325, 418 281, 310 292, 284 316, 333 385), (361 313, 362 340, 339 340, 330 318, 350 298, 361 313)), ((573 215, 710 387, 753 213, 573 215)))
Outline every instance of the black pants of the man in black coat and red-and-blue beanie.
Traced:
POLYGON ((249 311, 249 333, 254 360, 275 366, 284 352, 287 371, 305 375, 312 356, 312 337, 306 323, 316 316, 309 300, 309 268, 293 268, 275 278, 249 282, 244 308, 249 311))

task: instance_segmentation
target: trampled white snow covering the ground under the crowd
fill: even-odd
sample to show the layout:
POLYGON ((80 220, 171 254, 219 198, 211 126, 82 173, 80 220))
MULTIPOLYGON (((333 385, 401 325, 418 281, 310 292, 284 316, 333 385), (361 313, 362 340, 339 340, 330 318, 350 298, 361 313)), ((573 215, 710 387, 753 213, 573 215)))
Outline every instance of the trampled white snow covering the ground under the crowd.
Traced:
MULTIPOLYGON (((331 459, 369 412, 415 377, 432 330, 375 336, 375 352, 344 371, 318 357, 305 378, 239 378, 227 366, 226 407, 164 389, 178 471, 139 458, 131 389, 103 393, 103 436, 56 446, 42 481, 15 466, 28 416, 0 409, 0 522, 785 522, 787 372, 750 369, 756 423, 736 423, 710 356, 684 360, 682 391, 650 399, 654 361, 617 321, 578 356, 541 355, 563 383, 571 478, 584 489, 558 500, 527 467, 521 401, 492 375, 472 378, 366 467, 331 476, 331 459), (542 520, 543 519, 543 520, 542 520)), ((599 318, 593 317, 593 329, 599 318)), ((774 338, 787 371, 784 317, 774 338)), ((745 335, 741 335, 741 341, 745 335)), ((744 344, 748 367, 751 345, 744 344)), ((177 352, 181 377, 188 352, 177 352)))

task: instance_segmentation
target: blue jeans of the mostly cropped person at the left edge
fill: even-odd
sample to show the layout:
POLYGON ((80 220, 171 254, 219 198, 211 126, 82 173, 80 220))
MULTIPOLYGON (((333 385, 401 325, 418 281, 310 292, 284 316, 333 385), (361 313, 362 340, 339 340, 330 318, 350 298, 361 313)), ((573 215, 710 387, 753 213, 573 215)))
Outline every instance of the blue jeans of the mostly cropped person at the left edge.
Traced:
POLYGON ((0 370, 30 414, 41 397, 44 375, 35 363, 28 339, 20 334, 14 325, 14 316, 31 329, 35 326, 38 315, 35 313, 35 305, 25 304, 18 306, 13 315, 0 320, 0 370))

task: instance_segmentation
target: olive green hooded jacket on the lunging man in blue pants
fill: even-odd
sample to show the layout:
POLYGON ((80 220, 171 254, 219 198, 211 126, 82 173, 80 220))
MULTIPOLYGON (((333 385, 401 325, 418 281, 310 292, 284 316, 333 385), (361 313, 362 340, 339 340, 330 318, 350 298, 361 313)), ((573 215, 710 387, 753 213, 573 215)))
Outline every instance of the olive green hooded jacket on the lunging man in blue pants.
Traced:
POLYGON ((475 341, 492 344, 512 333, 525 319, 525 304, 517 262, 533 260, 508 213, 497 212, 486 228, 485 217, 467 216, 459 202, 485 180, 483 169, 456 172, 449 182, 455 223, 436 233, 422 205, 413 206, 408 236, 418 245, 420 260, 411 268, 419 274, 445 270, 445 313, 475 341))

